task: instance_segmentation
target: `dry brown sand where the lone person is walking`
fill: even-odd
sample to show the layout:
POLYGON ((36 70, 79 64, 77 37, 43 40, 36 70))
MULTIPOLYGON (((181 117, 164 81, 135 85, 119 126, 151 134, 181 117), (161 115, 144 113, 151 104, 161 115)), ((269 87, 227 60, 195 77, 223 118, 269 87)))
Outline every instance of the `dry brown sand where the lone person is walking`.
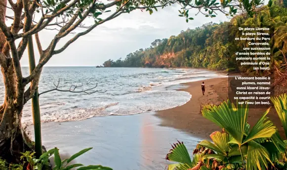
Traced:
MULTIPOLYGON (((204 82, 206 86, 205 95, 201 91, 202 81, 185 83, 188 88, 181 90, 189 92, 192 95, 191 100, 184 105, 158 111, 155 114, 163 120, 162 126, 173 127, 206 139, 209 139, 212 132, 220 130, 215 124, 202 116, 200 108, 202 104, 219 104, 226 100, 228 98, 229 80, 228 78, 212 78, 204 80, 204 82)), ((264 108, 249 109, 247 122, 251 127, 265 111, 264 108)), ((279 133, 284 137, 283 127, 274 108, 270 110, 267 117, 274 122, 279 133)))

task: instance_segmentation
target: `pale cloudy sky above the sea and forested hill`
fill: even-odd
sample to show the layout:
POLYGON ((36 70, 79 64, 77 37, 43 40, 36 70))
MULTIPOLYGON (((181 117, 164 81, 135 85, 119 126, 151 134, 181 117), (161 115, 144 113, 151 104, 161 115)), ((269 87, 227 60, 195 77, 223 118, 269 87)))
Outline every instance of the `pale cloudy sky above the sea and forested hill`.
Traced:
MULTIPOLYGON (((64 52, 54 55, 45 66, 99 66, 105 61, 119 58, 124 59, 127 54, 140 48, 147 48, 155 39, 169 38, 178 35, 182 30, 194 29, 208 22, 228 21, 224 14, 218 14, 215 18, 205 17, 202 14, 195 15, 198 10, 190 10, 189 17, 194 20, 185 22, 185 18, 179 17, 179 5, 168 6, 164 9, 149 12, 135 10, 129 14, 123 14, 96 27, 89 34, 81 36, 72 43, 64 52)), ((93 21, 88 21, 93 23, 93 21)), ((88 24, 87 22, 87 24, 88 24)), ((79 32, 81 30, 77 30, 79 32)), ((47 47, 57 31, 43 30, 39 36, 43 49, 47 47)), ((67 40, 75 36, 69 34, 57 44, 56 49, 61 48, 67 40)), ((39 61, 39 53, 34 41, 36 61, 39 61)), ((28 66, 28 51, 21 59, 21 66, 28 66)))

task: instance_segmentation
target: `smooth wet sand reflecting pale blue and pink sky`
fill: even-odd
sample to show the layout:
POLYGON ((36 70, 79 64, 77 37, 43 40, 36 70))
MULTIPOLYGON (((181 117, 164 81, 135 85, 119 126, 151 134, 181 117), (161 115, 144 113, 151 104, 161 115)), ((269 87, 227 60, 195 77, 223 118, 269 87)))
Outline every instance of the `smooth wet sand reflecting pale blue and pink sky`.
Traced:
POLYGON ((43 123, 42 144, 47 149, 58 147, 62 159, 93 147, 74 162, 83 165, 103 165, 114 170, 164 170, 170 163, 165 161, 170 143, 176 139, 183 141, 192 153, 201 139, 160 126, 161 120, 154 114, 43 123))

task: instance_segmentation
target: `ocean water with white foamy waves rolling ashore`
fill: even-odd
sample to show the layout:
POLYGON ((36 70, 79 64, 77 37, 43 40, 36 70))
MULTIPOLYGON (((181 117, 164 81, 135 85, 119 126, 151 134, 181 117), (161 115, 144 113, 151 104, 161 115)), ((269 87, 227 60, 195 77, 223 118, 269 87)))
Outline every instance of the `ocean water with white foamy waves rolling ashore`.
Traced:
MULTIPOLYGON (((28 68, 22 68, 29 75, 28 68)), ((204 80, 219 75, 202 69, 44 67, 39 93, 54 89, 75 91, 93 88, 105 93, 51 91, 40 95, 41 121, 78 121, 96 116, 129 115, 164 110, 188 102, 191 95, 175 91, 180 83, 204 80), (72 88, 73 89, 73 88, 72 88)), ((3 92, 0 79, 0 91, 3 92)), ((3 100, 4 94, 0 94, 3 100)), ((1 102, 1 101, 0 101, 1 102)), ((32 124, 31 101, 25 104, 22 122, 32 124)))

